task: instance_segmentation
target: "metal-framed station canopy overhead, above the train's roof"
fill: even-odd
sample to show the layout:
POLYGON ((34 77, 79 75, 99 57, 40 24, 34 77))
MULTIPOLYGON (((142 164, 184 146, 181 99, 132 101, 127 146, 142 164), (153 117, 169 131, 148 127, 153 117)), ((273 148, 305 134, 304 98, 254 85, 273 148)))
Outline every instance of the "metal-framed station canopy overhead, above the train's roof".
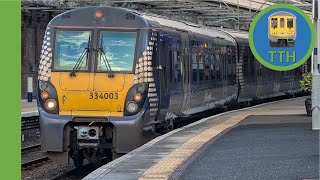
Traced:
POLYGON ((205 26, 248 30, 255 15, 274 3, 292 4, 311 16, 311 0, 23 0, 21 8, 25 14, 55 16, 74 8, 114 6, 205 26))

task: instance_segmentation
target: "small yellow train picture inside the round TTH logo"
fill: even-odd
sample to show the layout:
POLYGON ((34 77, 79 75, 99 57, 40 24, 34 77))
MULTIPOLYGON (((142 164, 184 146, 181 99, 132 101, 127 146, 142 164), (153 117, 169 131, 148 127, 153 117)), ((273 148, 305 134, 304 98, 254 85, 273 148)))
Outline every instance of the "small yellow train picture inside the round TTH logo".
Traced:
POLYGON ((271 47, 293 47, 297 37, 296 16, 280 11, 268 18, 268 38, 271 47))

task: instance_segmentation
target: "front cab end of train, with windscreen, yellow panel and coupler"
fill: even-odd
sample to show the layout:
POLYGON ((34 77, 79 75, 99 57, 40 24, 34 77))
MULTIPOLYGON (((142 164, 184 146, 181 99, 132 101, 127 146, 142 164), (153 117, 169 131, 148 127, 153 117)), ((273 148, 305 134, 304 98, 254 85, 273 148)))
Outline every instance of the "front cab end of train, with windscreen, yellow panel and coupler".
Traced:
POLYGON ((117 8, 91 7, 50 22, 39 67, 42 150, 69 151, 80 166, 83 159, 98 163, 102 156, 127 153, 151 138, 143 129, 150 119, 149 86, 155 83, 150 73, 143 76, 152 72, 148 45, 156 38, 151 30, 140 29, 144 20, 133 16, 117 8), (92 22, 98 11, 128 22, 102 18, 106 25, 81 24, 92 22), (72 26, 62 26, 70 22, 72 26))

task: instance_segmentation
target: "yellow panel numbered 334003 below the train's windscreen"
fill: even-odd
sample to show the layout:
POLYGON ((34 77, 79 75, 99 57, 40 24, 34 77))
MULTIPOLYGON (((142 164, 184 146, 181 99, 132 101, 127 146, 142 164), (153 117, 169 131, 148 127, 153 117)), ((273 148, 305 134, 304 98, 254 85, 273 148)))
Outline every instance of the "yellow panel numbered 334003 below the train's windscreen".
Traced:
POLYGON ((59 114, 123 116, 126 95, 134 84, 133 74, 115 74, 115 78, 108 78, 106 73, 77 73, 72 78, 68 75, 54 72, 51 77, 58 94, 59 114))

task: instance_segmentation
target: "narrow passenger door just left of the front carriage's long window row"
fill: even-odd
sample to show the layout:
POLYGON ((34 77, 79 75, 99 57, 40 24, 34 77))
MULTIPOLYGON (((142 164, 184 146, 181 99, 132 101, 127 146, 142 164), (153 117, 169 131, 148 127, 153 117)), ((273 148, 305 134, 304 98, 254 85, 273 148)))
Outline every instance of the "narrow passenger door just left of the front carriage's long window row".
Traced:
POLYGON ((190 85, 190 62, 189 62, 189 36, 187 33, 181 33, 181 67, 182 67, 182 84, 183 84, 183 101, 181 112, 190 107, 191 85, 190 85))

